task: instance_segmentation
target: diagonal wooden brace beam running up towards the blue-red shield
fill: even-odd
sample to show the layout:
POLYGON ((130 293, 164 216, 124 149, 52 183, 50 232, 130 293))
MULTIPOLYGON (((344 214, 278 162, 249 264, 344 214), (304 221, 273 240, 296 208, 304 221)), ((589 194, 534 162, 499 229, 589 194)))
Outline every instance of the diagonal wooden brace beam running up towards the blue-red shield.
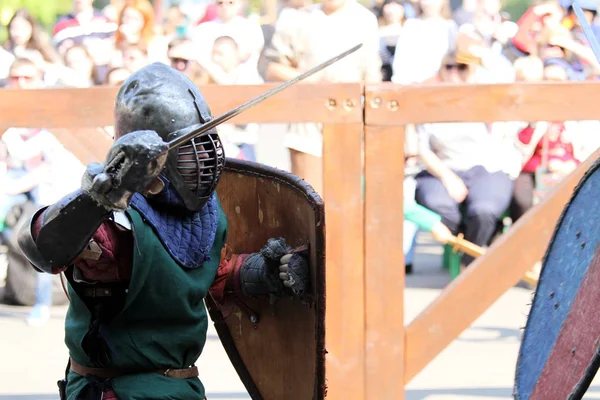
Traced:
POLYGON ((405 383, 410 382, 543 257, 573 189, 598 157, 600 150, 565 178, 540 204, 525 213, 507 234, 501 236, 484 256, 473 261, 408 326, 405 383))

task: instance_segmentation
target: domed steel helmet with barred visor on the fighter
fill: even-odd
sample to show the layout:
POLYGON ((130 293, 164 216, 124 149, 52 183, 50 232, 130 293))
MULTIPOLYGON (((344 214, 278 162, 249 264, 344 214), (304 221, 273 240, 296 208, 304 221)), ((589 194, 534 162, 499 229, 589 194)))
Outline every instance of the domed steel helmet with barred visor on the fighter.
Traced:
MULTIPOLYGON (((153 130, 169 142, 212 119, 202 93, 181 72, 150 64, 131 75, 115 102, 115 138, 153 130)), ((169 152, 163 175, 186 208, 199 210, 215 191, 225 164, 216 128, 169 152)))

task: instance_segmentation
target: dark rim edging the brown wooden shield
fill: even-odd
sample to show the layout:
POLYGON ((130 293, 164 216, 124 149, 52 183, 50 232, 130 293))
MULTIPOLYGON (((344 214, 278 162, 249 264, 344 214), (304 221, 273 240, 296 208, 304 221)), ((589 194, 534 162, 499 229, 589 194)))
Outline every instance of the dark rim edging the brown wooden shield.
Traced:
MULTIPOLYGON (((315 210, 315 222, 322 228, 317 231, 315 246, 318 249, 318 259, 320 268, 317 269, 317 299, 315 300, 317 310, 317 348, 316 348, 316 366, 315 366, 315 393, 313 400, 323 400, 327 392, 325 382, 325 204, 323 199, 306 181, 293 175, 289 172, 270 167, 268 165, 255 163, 252 161, 244 161, 233 158, 227 158, 225 162, 225 170, 237 172, 243 175, 263 177, 270 180, 277 180, 280 183, 291 187, 292 189, 301 192, 309 203, 313 205, 315 210)), ((252 380, 248 369, 242 362, 239 352, 237 351, 233 338, 227 329, 224 322, 223 314, 219 307, 213 302, 210 296, 206 297, 207 308, 211 319, 215 323, 215 329, 221 339, 221 343, 229 356, 240 380, 248 390, 248 394, 253 400, 263 400, 260 391, 252 380)))

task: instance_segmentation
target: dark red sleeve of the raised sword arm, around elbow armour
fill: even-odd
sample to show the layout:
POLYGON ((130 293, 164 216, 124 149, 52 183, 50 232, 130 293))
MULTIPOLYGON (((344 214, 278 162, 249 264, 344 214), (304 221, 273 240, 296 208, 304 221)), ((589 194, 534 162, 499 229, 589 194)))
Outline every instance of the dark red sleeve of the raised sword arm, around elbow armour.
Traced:
MULTIPOLYGON (((34 240, 42 226, 42 216, 33 221, 34 240)), ((107 220, 100 225, 92 236, 88 247, 73 261, 85 279, 99 282, 120 282, 131 278, 133 265, 133 235, 113 221, 107 220)), ((68 266, 53 268, 58 274, 68 266)))

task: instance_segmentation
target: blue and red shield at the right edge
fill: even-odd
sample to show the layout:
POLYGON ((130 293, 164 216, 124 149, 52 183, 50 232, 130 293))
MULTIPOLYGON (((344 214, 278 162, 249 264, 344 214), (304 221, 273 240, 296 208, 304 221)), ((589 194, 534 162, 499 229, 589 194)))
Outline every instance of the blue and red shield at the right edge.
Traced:
POLYGON ((575 189, 546 252, 519 352, 515 399, 581 399, 600 366, 599 166, 575 189))

